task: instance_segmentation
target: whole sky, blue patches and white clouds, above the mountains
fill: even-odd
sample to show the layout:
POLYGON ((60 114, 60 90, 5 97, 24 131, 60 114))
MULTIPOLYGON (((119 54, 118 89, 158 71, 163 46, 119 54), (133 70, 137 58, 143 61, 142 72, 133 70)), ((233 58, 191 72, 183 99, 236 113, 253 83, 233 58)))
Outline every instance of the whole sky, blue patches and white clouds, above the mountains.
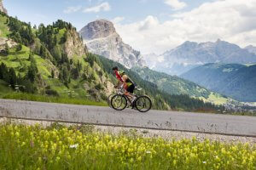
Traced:
POLYGON ((256 46, 256 0, 3 0, 9 15, 78 31, 98 19, 113 21, 125 43, 142 54, 162 54, 185 41, 256 46))

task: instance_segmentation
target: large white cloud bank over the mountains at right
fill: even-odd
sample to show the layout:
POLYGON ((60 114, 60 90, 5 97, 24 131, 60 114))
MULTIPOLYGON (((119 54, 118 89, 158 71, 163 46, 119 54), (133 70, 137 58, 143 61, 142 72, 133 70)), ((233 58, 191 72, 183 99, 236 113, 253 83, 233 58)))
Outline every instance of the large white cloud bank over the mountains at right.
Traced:
POLYGON ((143 54, 163 53, 184 41, 208 42, 218 38, 241 47, 256 45, 256 1, 219 0, 160 22, 149 15, 131 24, 114 26, 126 43, 143 54))

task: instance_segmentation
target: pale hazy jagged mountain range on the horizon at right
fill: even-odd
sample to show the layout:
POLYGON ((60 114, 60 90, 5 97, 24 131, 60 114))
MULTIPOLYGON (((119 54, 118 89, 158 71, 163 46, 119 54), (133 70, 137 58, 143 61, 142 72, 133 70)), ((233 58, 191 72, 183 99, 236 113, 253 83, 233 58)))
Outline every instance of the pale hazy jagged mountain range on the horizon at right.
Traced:
POLYGON ((256 54, 236 44, 224 42, 184 42, 161 54, 155 65, 155 71, 166 72, 170 75, 181 75, 190 69, 207 63, 237 63, 247 64, 256 62, 256 54))

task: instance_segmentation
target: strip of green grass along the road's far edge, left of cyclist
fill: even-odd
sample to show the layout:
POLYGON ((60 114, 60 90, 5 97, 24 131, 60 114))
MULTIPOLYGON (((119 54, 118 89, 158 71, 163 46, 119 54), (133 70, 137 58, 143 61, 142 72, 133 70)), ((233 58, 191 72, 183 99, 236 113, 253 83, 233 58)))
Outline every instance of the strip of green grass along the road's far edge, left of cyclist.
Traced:
POLYGON ((74 99, 67 97, 53 97, 42 94, 22 94, 22 93, 10 93, 5 94, 3 99, 20 99, 28 101, 40 101, 47 103, 60 103, 60 104, 73 104, 73 105, 97 105, 107 106, 105 102, 96 102, 90 99, 74 99))

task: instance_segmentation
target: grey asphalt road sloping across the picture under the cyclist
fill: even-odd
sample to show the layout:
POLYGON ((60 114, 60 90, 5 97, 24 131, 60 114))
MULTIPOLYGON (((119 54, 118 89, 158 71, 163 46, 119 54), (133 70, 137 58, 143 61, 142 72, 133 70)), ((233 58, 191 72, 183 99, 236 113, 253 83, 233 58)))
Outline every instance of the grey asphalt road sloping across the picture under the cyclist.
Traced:
POLYGON ((0 99, 0 116, 256 137, 255 116, 229 116, 180 111, 141 113, 131 109, 114 111, 108 107, 11 99, 0 99))

